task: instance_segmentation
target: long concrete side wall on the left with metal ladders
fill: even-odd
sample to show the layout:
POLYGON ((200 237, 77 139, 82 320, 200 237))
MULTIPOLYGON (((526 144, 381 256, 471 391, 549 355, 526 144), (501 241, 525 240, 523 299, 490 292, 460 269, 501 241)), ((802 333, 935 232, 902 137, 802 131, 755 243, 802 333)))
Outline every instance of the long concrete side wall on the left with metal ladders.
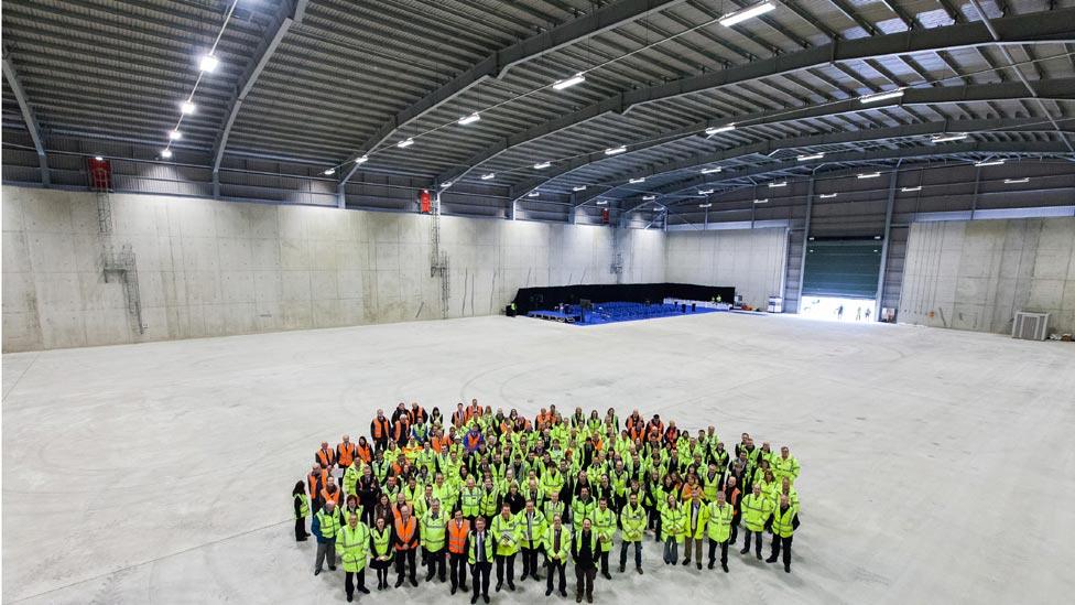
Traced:
MULTIPOLYGON (((2 194, 4 352, 442 316, 428 216, 112 195, 115 248, 138 259, 139 334, 123 285, 104 279, 95 196, 2 194)), ((660 230, 442 222, 450 317, 498 313, 526 285, 664 280, 660 230)))

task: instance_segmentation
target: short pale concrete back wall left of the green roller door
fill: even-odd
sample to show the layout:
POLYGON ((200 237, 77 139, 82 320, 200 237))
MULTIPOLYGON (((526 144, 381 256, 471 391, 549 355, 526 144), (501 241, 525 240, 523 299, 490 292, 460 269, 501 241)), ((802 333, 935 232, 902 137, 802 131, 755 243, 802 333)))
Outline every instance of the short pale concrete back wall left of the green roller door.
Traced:
POLYGON ((670 231, 664 266, 670 282, 734 285, 745 303, 764 309, 781 295, 788 230, 670 231))

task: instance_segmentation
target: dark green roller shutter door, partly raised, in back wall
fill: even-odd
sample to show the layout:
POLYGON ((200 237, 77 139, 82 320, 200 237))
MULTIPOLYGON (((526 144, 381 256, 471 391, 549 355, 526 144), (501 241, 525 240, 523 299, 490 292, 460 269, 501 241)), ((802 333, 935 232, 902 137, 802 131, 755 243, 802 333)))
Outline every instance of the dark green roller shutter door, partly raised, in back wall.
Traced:
POLYGON ((807 241, 803 294, 872 300, 877 298, 877 276, 880 270, 879 240, 807 241))

